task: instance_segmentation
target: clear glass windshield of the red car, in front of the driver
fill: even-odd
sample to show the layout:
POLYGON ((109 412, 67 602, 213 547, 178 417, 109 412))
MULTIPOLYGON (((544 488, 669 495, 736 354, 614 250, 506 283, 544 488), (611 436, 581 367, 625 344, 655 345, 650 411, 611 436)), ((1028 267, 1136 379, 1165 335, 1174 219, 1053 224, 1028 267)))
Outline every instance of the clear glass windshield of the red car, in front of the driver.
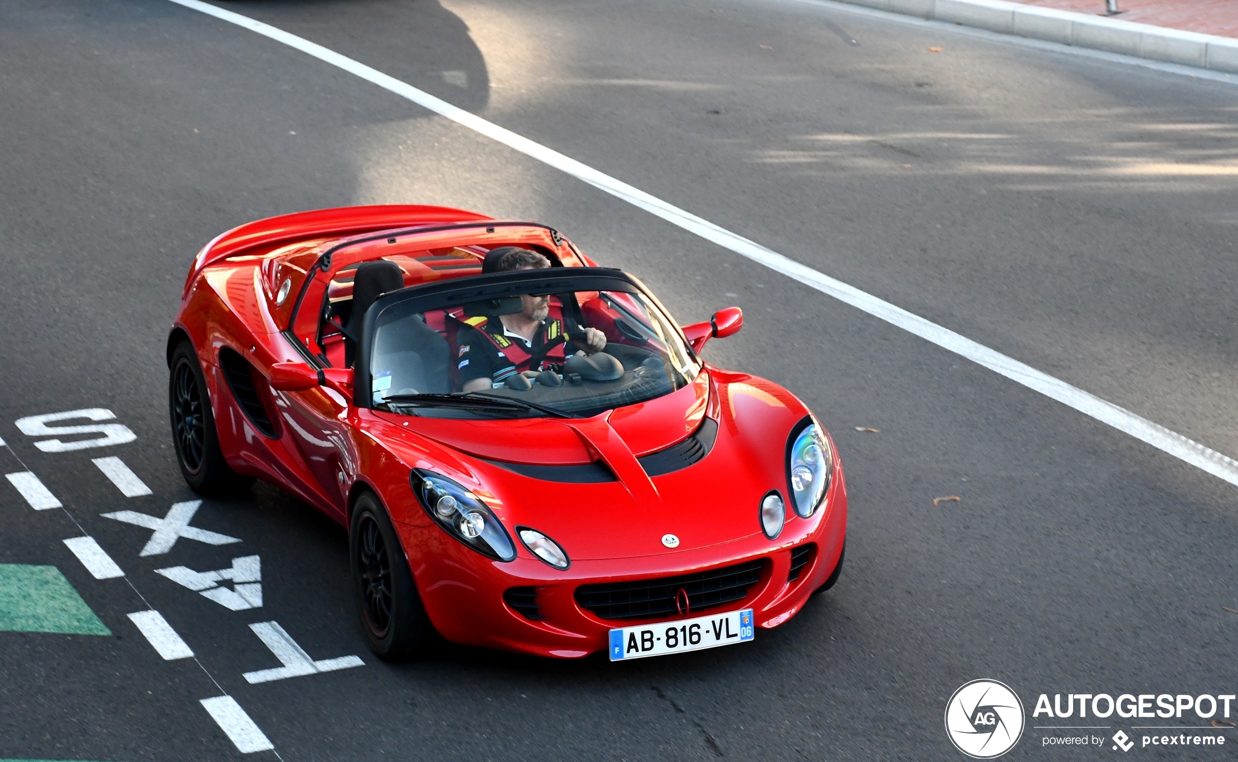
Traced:
POLYGON ((373 407, 438 418, 584 417, 696 377, 682 334, 636 283, 617 271, 591 278, 565 270, 459 278, 485 285, 375 303, 365 369, 373 407))

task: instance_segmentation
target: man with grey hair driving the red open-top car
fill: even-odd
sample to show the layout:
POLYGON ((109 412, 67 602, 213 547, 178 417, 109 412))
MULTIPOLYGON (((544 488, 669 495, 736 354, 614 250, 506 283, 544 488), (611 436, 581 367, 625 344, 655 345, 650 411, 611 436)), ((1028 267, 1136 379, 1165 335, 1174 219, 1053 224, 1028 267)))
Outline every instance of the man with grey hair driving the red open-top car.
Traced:
MULTIPOLYGON (((550 267, 550 260, 536 251, 508 249, 495 257, 494 272, 550 267)), ((485 391, 516 374, 536 375, 558 369, 573 346, 582 346, 576 354, 605 349, 607 336, 595 328, 586 328, 581 339, 568 339, 563 320, 551 317, 548 296, 521 294, 520 303, 519 313, 464 320, 467 325, 457 334, 452 359, 462 391, 485 391)))

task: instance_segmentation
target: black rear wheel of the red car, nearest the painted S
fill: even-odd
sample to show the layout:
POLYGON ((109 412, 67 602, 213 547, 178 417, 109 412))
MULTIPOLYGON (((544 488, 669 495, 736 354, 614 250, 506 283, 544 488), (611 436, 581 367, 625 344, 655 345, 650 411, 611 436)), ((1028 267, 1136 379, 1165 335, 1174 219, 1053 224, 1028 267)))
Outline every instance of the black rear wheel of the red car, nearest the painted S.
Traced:
POLYGON ((176 461, 189 489, 199 495, 220 495, 248 489, 251 476, 232 470, 223 450, 210 409, 210 393, 193 344, 181 341, 172 351, 167 402, 172 418, 176 461))

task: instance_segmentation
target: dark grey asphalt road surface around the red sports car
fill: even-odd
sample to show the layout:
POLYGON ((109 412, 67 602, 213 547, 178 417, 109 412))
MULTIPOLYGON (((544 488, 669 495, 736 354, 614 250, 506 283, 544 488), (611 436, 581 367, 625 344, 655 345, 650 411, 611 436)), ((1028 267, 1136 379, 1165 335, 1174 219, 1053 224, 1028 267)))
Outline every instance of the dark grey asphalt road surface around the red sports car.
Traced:
MULTIPOLYGON (((227 5, 1238 455, 1233 85, 784 0, 227 5)), ((67 508, 0 482, 0 564, 57 567, 114 633, 0 632, 0 757, 241 758, 199 705, 220 690, 288 762, 953 760, 942 711, 974 678, 1029 711, 1041 693, 1238 693, 1236 487, 339 69, 162 0, 6 0, 0 148, 0 465, 67 508), (683 323, 743 307, 707 359, 785 385, 834 434, 837 588, 735 648, 386 664, 343 529, 274 487, 194 517, 243 543, 140 557, 150 529, 102 515, 194 499, 163 355, 193 254, 361 203, 553 224, 683 323), (43 453, 14 424, 95 407, 136 440, 43 453), (124 497, 90 464, 106 455, 152 495, 124 497), (85 572, 61 542, 83 531, 128 581, 85 572), (154 573, 249 554, 261 609, 154 573), (197 661, 155 654, 125 616, 140 595, 197 661), (279 666, 260 621, 365 666, 250 685, 279 666)), ((1223 748, 1132 753, 1232 758, 1238 735, 1214 732, 1223 748)), ((1081 755, 1045 735, 1009 756, 1081 755)))

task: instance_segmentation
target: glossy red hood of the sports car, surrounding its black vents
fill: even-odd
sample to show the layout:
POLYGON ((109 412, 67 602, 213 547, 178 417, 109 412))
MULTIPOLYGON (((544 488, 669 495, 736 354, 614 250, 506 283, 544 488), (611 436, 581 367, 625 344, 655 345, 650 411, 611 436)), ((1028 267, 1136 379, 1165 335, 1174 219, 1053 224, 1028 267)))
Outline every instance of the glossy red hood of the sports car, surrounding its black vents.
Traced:
MULTIPOLYGON (((675 554, 760 534, 758 506, 770 490, 786 495, 787 432, 807 413, 799 400, 769 381, 714 369, 709 374, 661 400, 615 411, 609 419, 479 424, 421 418, 400 428, 410 432, 416 426, 418 434, 435 437, 451 450, 494 460, 530 461, 529 442, 537 443, 537 463, 603 460, 618 481, 552 484, 485 461, 467 463, 468 458, 444 465, 449 476, 483 495, 509 531, 529 526, 546 532, 574 559, 675 554), (718 422, 709 454, 690 468, 650 479, 636 456, 682 440, 706 413, 718 422), (680 538, 676 549, 662 546, 667 533, 680 538)), ((428 464, 412 458, 410 465, 428 464)), ((791 513, 789 522, 796 521, 802 520, 791 513)))

